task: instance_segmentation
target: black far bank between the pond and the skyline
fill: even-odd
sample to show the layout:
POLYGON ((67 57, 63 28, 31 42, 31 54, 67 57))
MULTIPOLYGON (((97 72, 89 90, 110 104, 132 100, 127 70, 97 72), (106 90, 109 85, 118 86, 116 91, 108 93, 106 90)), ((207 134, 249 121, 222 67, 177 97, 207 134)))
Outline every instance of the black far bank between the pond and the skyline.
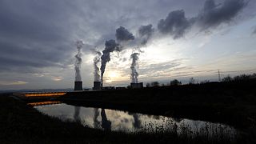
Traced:
POLYGON ((256 80, 67 93, 76 106, 221 122, 238 129, 256 125, 256 80))

